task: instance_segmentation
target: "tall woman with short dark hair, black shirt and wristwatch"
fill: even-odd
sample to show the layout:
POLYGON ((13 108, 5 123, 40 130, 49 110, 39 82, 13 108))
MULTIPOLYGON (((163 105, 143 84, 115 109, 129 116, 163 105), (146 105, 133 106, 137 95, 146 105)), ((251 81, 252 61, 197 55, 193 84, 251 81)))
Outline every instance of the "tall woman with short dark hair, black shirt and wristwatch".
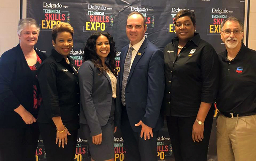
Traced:
POLYGON ((206 161, 218 81, 218 57, 195 33, 193 11, 179 11, 177 37, 164 50, 163 105, 176 161, 206 161))

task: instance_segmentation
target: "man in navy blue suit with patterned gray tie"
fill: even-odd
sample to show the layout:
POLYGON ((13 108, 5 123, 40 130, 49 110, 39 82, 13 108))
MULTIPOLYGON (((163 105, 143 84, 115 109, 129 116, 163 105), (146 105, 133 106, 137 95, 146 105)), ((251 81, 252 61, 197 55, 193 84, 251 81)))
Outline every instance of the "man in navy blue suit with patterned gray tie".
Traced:
POLYGON ((146 19, 128 15, 129 45, 121 50, 121 131, 129 161, 156 161, 157 135, 164 120, 164 55, 146 37, 146 19))

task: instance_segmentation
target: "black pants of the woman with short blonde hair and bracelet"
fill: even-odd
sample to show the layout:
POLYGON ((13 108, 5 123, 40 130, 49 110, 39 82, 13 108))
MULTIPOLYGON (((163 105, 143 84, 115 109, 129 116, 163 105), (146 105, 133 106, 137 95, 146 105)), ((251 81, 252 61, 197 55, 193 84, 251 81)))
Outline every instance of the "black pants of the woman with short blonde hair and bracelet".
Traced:
POLYGON ((47 161, 74 161, 77 143, 77 130, 69 131, 64 149, 55 143, 56 127, 51 124, 39 123, 39 129, 44 141, 47 161))

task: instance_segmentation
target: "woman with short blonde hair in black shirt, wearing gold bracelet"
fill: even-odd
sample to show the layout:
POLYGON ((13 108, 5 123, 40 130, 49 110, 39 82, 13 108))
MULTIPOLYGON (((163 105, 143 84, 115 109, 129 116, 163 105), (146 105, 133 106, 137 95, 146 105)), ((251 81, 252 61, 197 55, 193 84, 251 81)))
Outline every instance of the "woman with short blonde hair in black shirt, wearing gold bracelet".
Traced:
POLYGON ((39 129, 47 161, 73 161, 79 128, 79 84, 77 66, 70 56, 74 29, 61 22, 52 29, 52 55, 39 69, 42 106, 39 129))

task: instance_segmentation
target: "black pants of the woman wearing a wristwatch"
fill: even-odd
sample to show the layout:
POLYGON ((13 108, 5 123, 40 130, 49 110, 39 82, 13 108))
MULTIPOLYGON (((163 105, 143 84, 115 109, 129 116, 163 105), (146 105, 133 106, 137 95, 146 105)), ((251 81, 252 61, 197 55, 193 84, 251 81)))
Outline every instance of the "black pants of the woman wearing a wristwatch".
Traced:
POLYGON ((196 116, 167 116, 167 127, 171 138, 173 154, 176 161, 206 161, 209 139, 212 130, 213 109, 210 109, 204 122, 204 139, 192 140, 192 128, 196 116))

